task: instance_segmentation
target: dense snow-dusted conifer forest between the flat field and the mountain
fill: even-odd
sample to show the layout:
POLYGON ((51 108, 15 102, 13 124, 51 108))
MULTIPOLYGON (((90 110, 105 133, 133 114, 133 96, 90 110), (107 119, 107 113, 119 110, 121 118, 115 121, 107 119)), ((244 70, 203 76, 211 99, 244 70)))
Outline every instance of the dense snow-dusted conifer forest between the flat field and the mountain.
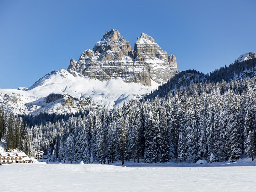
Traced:
POLYGON ((154 100, 71 115, 0 116, 6 149, 48 161, 234 162, 255 156, 256 79, 197 83, 154 100), (49 121, 50 120, 50 121, 49 121), (28 124, 28 122, 31 122, 28 124))

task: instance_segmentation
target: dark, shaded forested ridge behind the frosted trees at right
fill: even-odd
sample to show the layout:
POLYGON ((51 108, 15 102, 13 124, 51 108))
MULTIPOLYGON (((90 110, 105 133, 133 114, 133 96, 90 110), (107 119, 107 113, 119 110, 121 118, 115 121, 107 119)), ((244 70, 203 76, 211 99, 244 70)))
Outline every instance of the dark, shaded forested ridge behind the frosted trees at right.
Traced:
POLYGON ((210 72, 210 74, 203 74, 202 72, 190 69, 181 71, 165 84, 160 85, 154 92, 147 95, 145 99, 154 99, 156 96, 164 97, 168 94, 173 94, 175 89, 186 89, 188 86, 195 83, 218 83, 223 80, 230 82, 231 80, 235 81, 237 79, 253 77, 256 75, 252 73, 256 71, 255 64, 256 59, 254 58, 243 62, 235 61, 235 63, 216 69, 210 72))

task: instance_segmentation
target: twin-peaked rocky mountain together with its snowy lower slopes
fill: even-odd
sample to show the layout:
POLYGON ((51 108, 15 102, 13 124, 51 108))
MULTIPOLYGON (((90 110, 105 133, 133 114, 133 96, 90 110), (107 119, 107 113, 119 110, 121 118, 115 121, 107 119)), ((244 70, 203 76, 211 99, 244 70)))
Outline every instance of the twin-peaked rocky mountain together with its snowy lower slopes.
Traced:
POLYGON ((108 31, 68 70, 52 71, 29 88, 0 89, 6 112, 74 113, 141 98, 178 73, 176 58, 142 33, 134 50, 116 29, 108 31))

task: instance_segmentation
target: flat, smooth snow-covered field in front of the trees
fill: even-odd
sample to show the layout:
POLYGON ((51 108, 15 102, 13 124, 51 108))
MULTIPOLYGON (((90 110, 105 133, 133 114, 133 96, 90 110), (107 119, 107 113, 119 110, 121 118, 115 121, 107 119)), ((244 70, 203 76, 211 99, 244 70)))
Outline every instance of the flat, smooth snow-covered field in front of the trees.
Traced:
POLYGON ((1 191, 256 191, 256 164, 10 164, 1 191))

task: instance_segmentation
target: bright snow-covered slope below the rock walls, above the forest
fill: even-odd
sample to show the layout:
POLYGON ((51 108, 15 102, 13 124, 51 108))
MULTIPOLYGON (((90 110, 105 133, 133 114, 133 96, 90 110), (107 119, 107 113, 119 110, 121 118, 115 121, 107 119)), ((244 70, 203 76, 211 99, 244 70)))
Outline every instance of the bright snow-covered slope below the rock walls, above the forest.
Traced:
POLYGON ((138 83, 125 83, 122 79, 100 81, 72 75, 65 69, 52 71, 30 88, 23 90, 0 89, 0 106, 6 112, 38 114, 74 113, 96 106, 112 108, 124 100, 133 100, 156 89, 151 82, 147 87, 138 83), (55 95, 55 99, 49 98, 55 95))

